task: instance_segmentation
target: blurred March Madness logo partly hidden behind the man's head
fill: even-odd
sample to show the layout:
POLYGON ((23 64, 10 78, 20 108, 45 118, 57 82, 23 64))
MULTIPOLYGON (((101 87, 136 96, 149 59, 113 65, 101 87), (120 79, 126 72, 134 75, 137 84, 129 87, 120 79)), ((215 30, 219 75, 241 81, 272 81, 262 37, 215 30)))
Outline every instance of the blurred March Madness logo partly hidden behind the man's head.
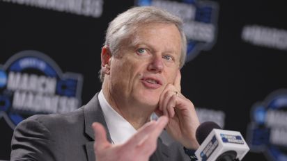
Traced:
POLYGON ((183 19, 183 31, 187 36, 187 61, 201 50, 209 50, 216 42, 219 6, 214 1, 199 0, 137 0, 138 6, 157 6, 183 19))

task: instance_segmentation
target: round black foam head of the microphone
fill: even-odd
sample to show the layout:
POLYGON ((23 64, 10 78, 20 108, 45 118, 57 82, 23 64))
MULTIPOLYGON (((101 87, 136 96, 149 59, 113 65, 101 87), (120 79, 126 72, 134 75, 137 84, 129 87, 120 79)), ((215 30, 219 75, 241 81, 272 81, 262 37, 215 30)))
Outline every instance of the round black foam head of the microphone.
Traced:
POLYGON ((213 128, 216 129, 222 129, 219 125, 217 125, 215 122, 212 121, 206 121, 203 122, 197 129, 196 129, 196 140, 201 145, 202 142, 208 137, 209 133, 213 130, 213 128))

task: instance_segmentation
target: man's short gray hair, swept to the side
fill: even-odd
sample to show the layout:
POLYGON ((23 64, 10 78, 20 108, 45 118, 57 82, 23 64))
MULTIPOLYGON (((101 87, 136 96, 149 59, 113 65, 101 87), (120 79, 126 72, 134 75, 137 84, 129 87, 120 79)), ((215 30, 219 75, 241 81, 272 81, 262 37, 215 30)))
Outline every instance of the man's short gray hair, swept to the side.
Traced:
MULTIPOLYGON (((119 14, 109 23, 104 45, 109 46, 112 56, 120 49, 121 42, 129 37, 140 24, 162 23, 175 24, 181 36, 180 68, 185 64, 187 40, 183 31, 180 17, 154 6, 134 7, 119 14)), ((100 70, 100 80, 103 82, 104 73, 100 70)))

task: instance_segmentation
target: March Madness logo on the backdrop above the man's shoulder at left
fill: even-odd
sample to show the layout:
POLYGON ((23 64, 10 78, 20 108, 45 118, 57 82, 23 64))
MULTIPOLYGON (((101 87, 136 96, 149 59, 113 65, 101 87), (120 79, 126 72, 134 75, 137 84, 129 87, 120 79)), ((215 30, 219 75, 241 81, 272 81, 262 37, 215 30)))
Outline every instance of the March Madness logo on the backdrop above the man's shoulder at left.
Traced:
POLYGON ((14 128, 31 115, 70 112, 81 90, 81 74, 63 74, 45 54, 21 51, 0 66, 0 117, 14 128))

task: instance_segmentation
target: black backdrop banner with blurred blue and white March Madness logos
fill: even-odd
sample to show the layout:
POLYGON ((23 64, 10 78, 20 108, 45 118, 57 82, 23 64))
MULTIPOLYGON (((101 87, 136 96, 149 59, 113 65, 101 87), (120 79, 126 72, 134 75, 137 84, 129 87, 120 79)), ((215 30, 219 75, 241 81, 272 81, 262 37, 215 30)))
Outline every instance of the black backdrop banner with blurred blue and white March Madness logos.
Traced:
POLYGON ((251 148, 243 160, 287 161, 287 2, 279 0, 0 0, 0 160, 10 159, 20 121, 70 112, 100 91, 107 25, 132 6, 185 22, 182 90, 200 121, 240 131, 251 148))

